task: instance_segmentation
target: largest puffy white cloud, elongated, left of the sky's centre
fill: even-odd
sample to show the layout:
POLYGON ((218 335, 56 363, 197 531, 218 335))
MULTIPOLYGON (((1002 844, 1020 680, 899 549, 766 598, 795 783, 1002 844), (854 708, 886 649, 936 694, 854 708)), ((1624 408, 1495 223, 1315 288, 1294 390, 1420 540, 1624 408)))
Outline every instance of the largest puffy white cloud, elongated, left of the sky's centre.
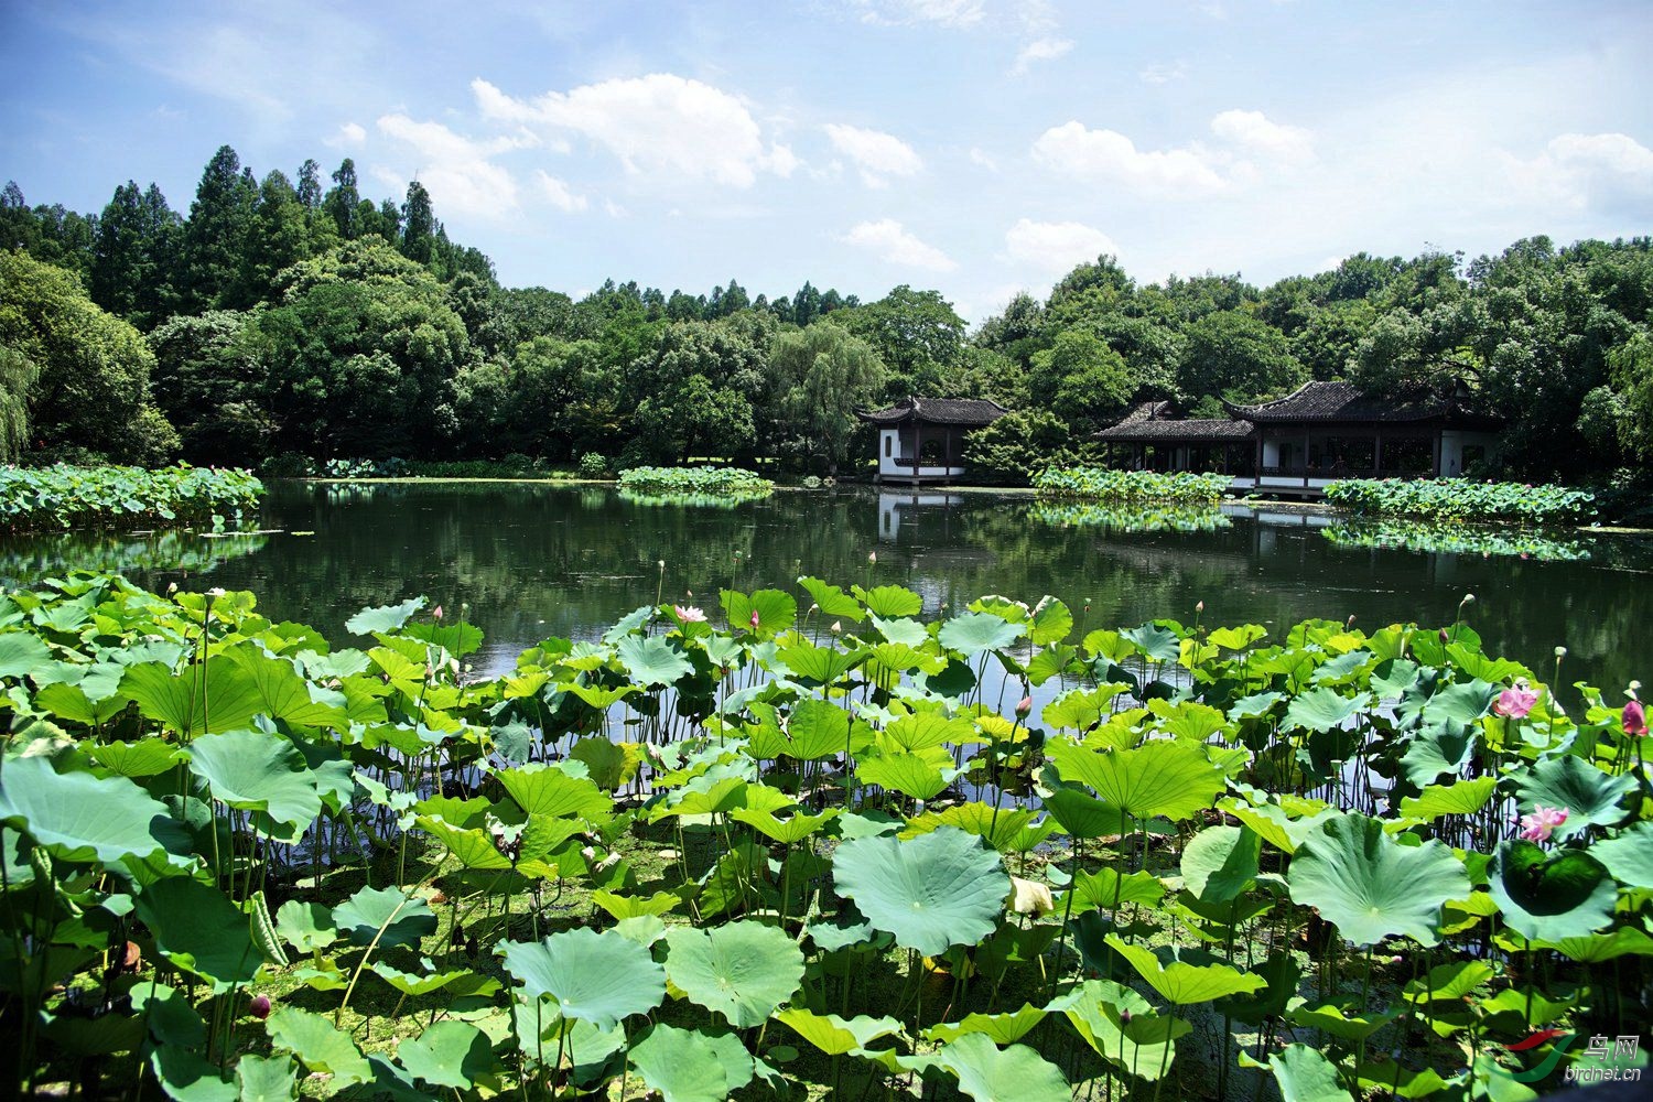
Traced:
POLYGON ((626 172, 656 180, 711 180, 752 187, 759 172, 788 175, 798 159, 765 145, 747 106, 711 84, 671 73, 582 84, 532 101, 471 81, 483 117, 579 134, 608 149, 626 172))

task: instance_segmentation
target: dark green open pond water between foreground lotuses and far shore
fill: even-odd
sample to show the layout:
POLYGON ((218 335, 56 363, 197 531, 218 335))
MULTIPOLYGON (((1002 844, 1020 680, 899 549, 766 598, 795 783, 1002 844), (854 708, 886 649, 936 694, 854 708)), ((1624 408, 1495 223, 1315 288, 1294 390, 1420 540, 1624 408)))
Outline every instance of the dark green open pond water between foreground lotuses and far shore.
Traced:
MULTIPOLYGON (((626 611, 696 603, 716 615, 717 590, 787 588, 812 573, 850 583, 901 583, 927 613, 984 593, 1035 601, 1056 595, 1081 631, 1157 616, 1261 623, 1308 616, 1372 629, 1395 621, 1468 620, 1488 649, 1549 679, 1589 679, 1618 701, 1630 677, 1653 682, 1653 540, 1564 537, 1537 555, 1357 547, 1332 517, 1293 509, 1230 509, 1215 530, 1131 532, 1050 509, 1031 497, 977 491, 780 491, 732 509, 646 506, 602 486, 273 482, 258 537, 35 537, 0 542, 0 580, 28 583, 71 567, 117 567, 162 590, 253 590, 273 620, 299 620, 336 641, 365 605, 426 595, 483 628, 476 658, 509 667, 547 636, 595 638, 626 611), (876 565, 868 555, 878 553, 876 565), (1542 555, 1559 555, 1546 560, 1542 555), (665 580, 658 562, 665 562, 665 580), (693 598, 689 596, 693 591, 693 598), (1083 606, 1089 600, 1089 613, 1083 606)), ((1207 522, 1210 524, 1210 522, 1207 522)), ((1465 532, 1450 534, 1463 540, 1465 532)), ((1488 537, 1504 549, 1508 534, 1488 537)))

